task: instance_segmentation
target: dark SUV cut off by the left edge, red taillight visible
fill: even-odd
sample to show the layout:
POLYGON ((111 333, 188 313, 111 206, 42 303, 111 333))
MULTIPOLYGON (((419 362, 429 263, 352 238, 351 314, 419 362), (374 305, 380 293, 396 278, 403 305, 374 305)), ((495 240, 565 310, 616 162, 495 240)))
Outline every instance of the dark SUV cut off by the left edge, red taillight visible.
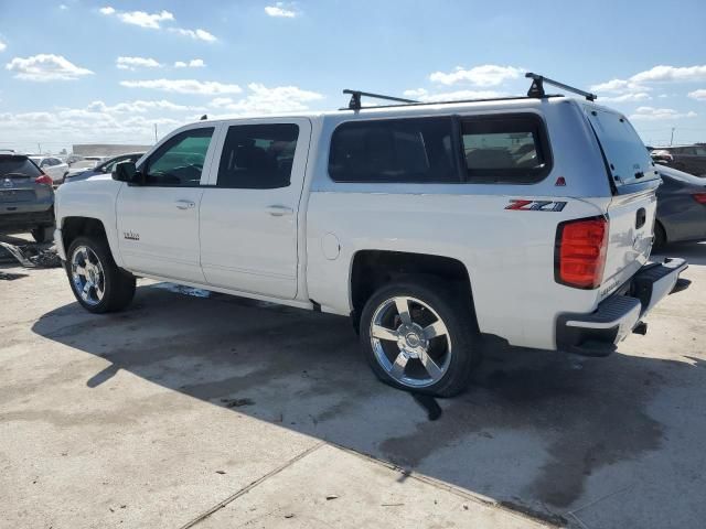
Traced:
POLYGON ((25 231, 38 242, 51 240, 53 181, 26 155, 0 152, 0 233, 25 231))

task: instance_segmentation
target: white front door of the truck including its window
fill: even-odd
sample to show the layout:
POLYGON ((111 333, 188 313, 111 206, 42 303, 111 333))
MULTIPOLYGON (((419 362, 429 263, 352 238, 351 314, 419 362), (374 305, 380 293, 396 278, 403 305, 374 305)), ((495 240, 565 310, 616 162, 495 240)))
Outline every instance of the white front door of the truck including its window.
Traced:
POLYGON ((203 283, 199 207, 213 158, 213 126, 164 141, 138 168, 140 185, 124 184, 117 201, 118 240, 133 272, 203 283))

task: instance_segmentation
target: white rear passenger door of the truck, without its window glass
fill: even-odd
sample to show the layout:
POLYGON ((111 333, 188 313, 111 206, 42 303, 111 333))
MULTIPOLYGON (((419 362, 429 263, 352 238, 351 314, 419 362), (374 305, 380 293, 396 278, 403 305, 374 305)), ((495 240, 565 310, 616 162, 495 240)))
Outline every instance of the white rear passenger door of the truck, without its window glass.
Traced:
MULTIPOLYGON (((220 288, 281 299, 297 295, 298 209, 311 134, 308 119, 248 120, 242 125, 293 123, 299 127, 290 183, 276 188, 218 187, 213 181, 201 203, 201 266, 220 288)), ((227 130, 223 131, 226 143, 227 130)), ((223 145, 214 160, 222 158, 223 145)), ((227 153, 224 164, 228 163, 227 153)), ((222 183, 223 184, 223 183, 222 183)))

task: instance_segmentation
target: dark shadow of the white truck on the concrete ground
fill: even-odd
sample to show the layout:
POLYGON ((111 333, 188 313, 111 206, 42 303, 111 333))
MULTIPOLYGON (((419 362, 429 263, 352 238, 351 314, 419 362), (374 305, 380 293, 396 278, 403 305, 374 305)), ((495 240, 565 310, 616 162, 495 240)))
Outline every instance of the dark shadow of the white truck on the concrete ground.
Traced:
POLYGON ((611 479, 599 471, 663 445, 665 425, 648 410, 655 396, 706 386, 696 359, 495 347, 469 391, 439 401, 442 414, 429 421, 408 393, 374 379, 347 319, 208 296, 145 285, 124 313, 92 315, 72 303, 33 331, 111 363, 85 380, 89 388, 122 369, 535 514, 595 499, 588 481, 600 489, 611 479))

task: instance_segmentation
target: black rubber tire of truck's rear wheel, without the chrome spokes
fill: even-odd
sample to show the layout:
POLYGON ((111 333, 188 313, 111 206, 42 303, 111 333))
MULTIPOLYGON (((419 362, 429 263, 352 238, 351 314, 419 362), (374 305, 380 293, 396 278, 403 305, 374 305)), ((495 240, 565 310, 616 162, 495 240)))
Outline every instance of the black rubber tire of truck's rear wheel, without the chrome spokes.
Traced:
MULTIPOLYGON (((475 316, 472 310, 472 300, 470 296, 460 294, 459 291, 464 289, 453 289, 450 284, 445 281, 430 279, 428 277, 410 277, 408 279, 389 283, 385 287, 378 289, 365 303, 365 307, 361 314, 361 325, 360 325, 360 336, 361 336, 361 346, 363 349, 363 355, 365 359, 372 367, 373 371, 385 384, 388 384, 393 387, 404 389, 411 392, 417 393, 427 393, 436 397, 453 397, 462 392, 469 382, 469 377, 473 366, 480 361, 481 348, 480 348, 480 337, 478 332, 478 325, 475 323, 475 316), (398 347, 398 344, 389 341, 377 341, 379 345, 374 348, 374 338, 372 336, 372 323, 374 317, 379 317, 384 313, 386 309, 385 306, 392 307, 389 302, 393 298, 410 298, 414 300, 418 300, 422 304, 428 305, 424 307, 421 305, 416 305, 414 300, 410 301, 408 306, 411 306, 410 314, 414 323, 417 323, 415 320, 415 306, 417 306, 417 317, 419 321, 424 321, 425 311, 427 317, 438 319, 442 321, 446 330, 448 331, 448 337, 450 338, 451 344, 451 354, 448 364, 446 365, 446 371, 440 378, 434 381, 434 376, 430 375, 431 371, 428 373, 431 384, 427 384, 425 386, 415 386, 410 384, 404 384, 400 380, 394 378, 391 375, 393 370, 388 370, 386 367, 382 365, 382 361, 393 363, 392 358, 395 357, 397 352, 402 352, 398 347), (428 311, 427 309, 430 309, 428 311), (436 315, 434 314, 436 313, 436 315), (387 357, 387 360, 378 360, 378 356, 381 353, 381 347, 384 349, 384 354, 387 357), (376 353, 377 350, 377 353, 376 353)), ((394 312, 394 310, 393 310, 394 312)), ((399 317, 399 316, 397 316, 399 317)), ((435 320, 427 320, 427 322, 434 322, 435 320)), ((402 320, 399 320, 400 323, 402 320)), ((428 324, 428 323, 427 323, 428 324)), ((384 325, 385 327, 395 328, 397 325, 397 321, 395 323, 391 323, 389 325, 384 325)), ((419 326, 424 326, 425 323, 419 323, 419 326)), ((395 331, 396 335, 399 336, 399 330, 403 326, 397 327, 395 331)), ((446 336, 446 335, 445 335, 446 336)), ((443 342, 445 336, 436 337, 429 339, 429 353, 432 353, 432 349, 439 345, 436 341, 441 342, 441 355, 438 356, 439 364, 445 361, 445 353, 448 352, 448 344, 443 342), (436 344, 436 345, 431 345, 436 344)), ((416 342, 417 335, 413 336, 416 342)), ((409 345, 408 342, 404 342, 407 347, 409 345)), ((418 373, 426 373, 426 368, 421 364, 420 357, 411 357, 404 360, 406 363, 405 367, 402 368, 403 377, 405 378, 411 368, 413 370, 417 370, 418 373), (414 360, 414 361, 413 361, 414 360), (410 365, 409 361, 413 361, 410 365), (419 371, 419 369, 425 369, 425 371, 419 371)), ((436 361, 436 359, 435 359, 436 361)), ((411 377, 414 378, 414 377, 411 377)))

